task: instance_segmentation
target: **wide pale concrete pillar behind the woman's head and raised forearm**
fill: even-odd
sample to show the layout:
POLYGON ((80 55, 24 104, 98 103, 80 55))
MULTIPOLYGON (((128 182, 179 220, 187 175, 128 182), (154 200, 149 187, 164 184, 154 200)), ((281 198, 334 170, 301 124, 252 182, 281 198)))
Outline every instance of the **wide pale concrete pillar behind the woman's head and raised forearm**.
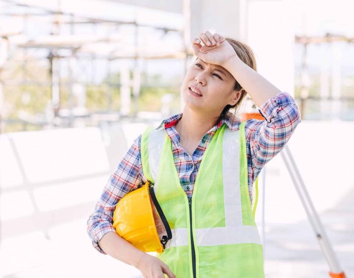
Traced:
POLYGON ((188 5, 190 37, 185 36, 185 41, 190 44, 207 30, 240 39, 255 52, 258 72, 294 95, 295 39, 289 0, 225 0, 219 5, 211 0, 185 0, 188 5))

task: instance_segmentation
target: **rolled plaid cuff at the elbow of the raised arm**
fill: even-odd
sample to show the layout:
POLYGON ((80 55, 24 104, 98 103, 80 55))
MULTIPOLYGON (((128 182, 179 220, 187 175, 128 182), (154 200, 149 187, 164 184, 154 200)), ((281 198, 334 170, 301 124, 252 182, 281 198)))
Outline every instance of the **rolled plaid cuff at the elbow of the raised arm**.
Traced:
POLYGON ((287 105, 296 105, 295 100, 287 92, 279 92, 275 97, 265 101, 258 111, 270 123, 278 115, 279 110, 287 105))

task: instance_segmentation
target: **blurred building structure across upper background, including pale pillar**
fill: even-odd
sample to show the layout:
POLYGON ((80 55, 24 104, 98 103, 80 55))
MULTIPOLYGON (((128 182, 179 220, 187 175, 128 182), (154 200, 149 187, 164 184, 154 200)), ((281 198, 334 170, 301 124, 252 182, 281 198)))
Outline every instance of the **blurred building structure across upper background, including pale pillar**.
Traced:
MULTIPOLYGON (((2 26, 14 24, 0 29, 0 100, 3 107, 0 131, 4 132, 5 126, 16 123, 22 123, 22 130, 27 130, 31 125, 32 129, 33 126, 47 129, 95 126, 101 121, 116 121, 122 117, 134 120, 142 115, 146 118, 149 114, 137 111, 144 111, 143 108, 135 109, 141 88, 157 84, 143 80, 142 71, 149 71, 149 61, 169 61, 170 65, 175 65, 174 72, 179 76, 172 84, 178 91, 193 57, 190 42, 199 36, 200 30, 219 32, 249 43, 256 53, 258 71, 293 96, 294 45, 303 45, 298 82, 300 92, 295 95, 302 118, 354 119, 353 98, 341 93, 343 84, 338 59, 342 48, 340 42, 352 44, 353 38, 336 34, 295 36, 285 0, 227 1, 217 9, 205 0, 176 1, 173 5, 158 1, 105 1, 107 9, 116 10, 116 15, 104 11, 85 14, 69 3, 67 0, 39 4, 31 0, 0 2, 2 26), (131 12, 130 17, 124 19, 126 12, 122 7, 125 6, 119 6, 122 4, 173 13, 178 20, 174 24, 166 21, 165 25, 149 24, 142 20, 143 13, 138 12, 131 12), (44 24, 46 27, 42 26, 44 24), (310 44, 317 45, 324 55, 326 48, 333 50, 332 58, 324 58, 320 65, 321 81, 316 96, 309 94, 312 85, 307 66, 310 44), (35 72, 35 63, 47 72, 35 72), (42 76, 38 78, 38 75, 42 76), (117 75, 119 78, 113 78, 117 75), (101 86, 103 90, 100 98, 105 99, 105 107, 101 105, 96 111, 87 109, 86 95, 90 85, 101 86), (50 90, 50 103, 37 115, 26 112, 26 109, 14 111, 17 108, 9 103, 17 94, 21 95, 18 98, 21 97, 23 107, 26 103, 33 104, 35 100, 26 93, 28 86, 32 86, 37 94, 50 90), (119 93, 114 95, 114 91, 119 93), (119 105, 114 103, 118 102, 117 98, 119 105), (320 109, 316 110, 316 107, 320 109), (312 115, 313 110, 317 116, 312 115)), ((92 1, 92 4, 99 5, 98 1, 92 1)), ((171 85, 168 84, 171 79, 166 80, 159 86, 171 85)), ((166 94, 172 96, 168 91, 166 94)), ((156 111, 158 114, 150 113, 150 116, 156 118, 172 113, 170 97, 160 100, 169 101, 160 105, 161 109, 156 111)), ((174 109, 180 110, 175 106, 174 109)), ((149 108, 146 107, 145 111, 149 108)))

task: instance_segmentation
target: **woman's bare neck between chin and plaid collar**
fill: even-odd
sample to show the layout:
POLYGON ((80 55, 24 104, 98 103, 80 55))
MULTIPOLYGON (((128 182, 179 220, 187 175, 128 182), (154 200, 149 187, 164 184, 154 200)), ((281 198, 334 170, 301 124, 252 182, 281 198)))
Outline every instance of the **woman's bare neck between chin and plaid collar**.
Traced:
POLYGON ((217 123, 218 118, 219 115, 198 113, 185 106, 182 119, 176 124, 176 129, 181 139, 188 136, 200 140, 217 123))

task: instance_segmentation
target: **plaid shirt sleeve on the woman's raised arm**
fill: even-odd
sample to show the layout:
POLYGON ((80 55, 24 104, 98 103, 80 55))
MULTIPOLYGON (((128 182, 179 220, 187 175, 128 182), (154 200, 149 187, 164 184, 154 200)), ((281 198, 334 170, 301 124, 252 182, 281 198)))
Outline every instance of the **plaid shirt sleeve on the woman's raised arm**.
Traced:
POLYGON ((295 100, 287 92, 280 92, 258 109, 265 120, 248 120, 245 126, 252 180, 284 148, 301 122, 295 100))

